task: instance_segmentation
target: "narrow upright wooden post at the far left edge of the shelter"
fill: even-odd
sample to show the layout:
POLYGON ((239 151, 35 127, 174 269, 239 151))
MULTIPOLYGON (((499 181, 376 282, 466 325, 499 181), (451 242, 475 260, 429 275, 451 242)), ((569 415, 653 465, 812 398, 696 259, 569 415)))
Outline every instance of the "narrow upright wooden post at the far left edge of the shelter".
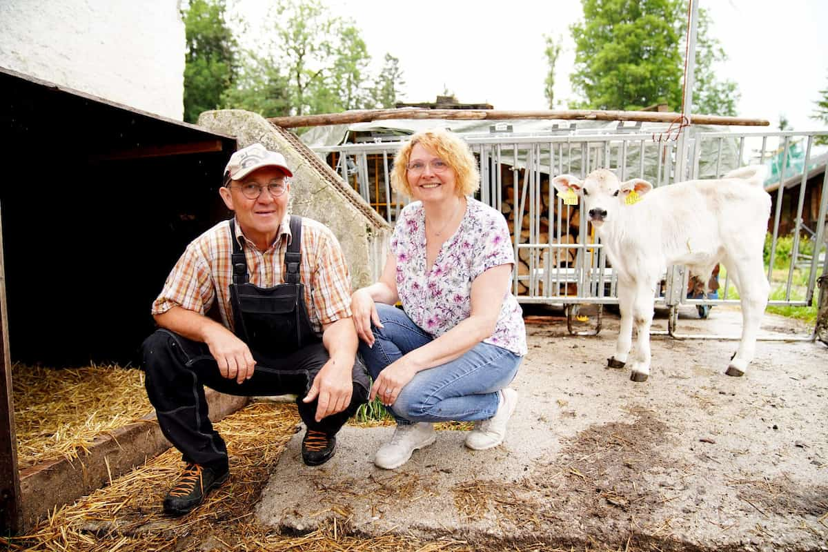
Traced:
POLYGON ((12 401, 12 359, 8 352, 6 266, 2 255, 0 220, 0 534, 15 534, 22 520, 20 477, 17 473, 17 438, 12 401))

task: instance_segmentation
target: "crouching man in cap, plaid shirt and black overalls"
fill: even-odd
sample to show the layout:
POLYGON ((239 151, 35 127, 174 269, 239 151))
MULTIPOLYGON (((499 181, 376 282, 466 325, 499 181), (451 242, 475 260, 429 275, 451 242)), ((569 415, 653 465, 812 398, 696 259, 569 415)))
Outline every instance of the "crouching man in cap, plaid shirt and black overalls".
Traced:
POLYGON ((286 214, 291 170, 253 144, 233 153, 219 194, 234 217, 195 238, 167 277, 143 343, 147 395, 187 463, 164 498, 181 516, 229 475, 204 386, 240 396, 296 394, 309 466, 334 454, 337 432, 368 396, 356 358, 348 268, 321 223, 286 214), (206 316, 217 303, 222 323, 206 316))

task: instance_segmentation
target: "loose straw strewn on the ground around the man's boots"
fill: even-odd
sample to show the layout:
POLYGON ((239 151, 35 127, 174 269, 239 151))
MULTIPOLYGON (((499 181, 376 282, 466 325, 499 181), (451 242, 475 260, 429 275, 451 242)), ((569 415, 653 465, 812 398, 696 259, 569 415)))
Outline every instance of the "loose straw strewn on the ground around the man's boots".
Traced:
MULTIPOLYGON (((27 535, 4 540, 9 550, 150 552, 155 550, 469 550, 464 543, 422 542, 398 535, 360 539, 333 525, 309 535, 280 535, 253 516, 267 478, 298 428, 296 406, 254 403, 216 425, 230 455, 231 476, 207 502, 178 519, 161 500, 183 463, 175 449, 153 458, 73 506, 65 506, 27 535)), ((347 526, 347 521, 345 526, 347 526)))

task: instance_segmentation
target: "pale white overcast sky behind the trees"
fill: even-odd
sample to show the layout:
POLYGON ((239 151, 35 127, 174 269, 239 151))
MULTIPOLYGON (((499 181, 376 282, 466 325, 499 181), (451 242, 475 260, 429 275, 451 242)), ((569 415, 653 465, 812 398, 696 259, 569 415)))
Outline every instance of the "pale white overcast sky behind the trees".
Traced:
MULTIPOLYGON (((400 60, 403 101, 434 101, 449 89, 464 103, 497 109, 545 109, 544 34, 562 36, 556 101, 572 97, 575 58, 569 26, 582 12, 578 0, 323 0, 362 31, 381 65, 386 52, 400 60)), ((266 2, 239 0, 257 17, 266 2)), ((818 91, 828 88, 828 2, 825 0, 700 0, 730 60, 720 68, 742 93, 739 115, 784 113, 797 130, 820 127, 808 116, 818 91)), ((248 19, 249 21, 249 19, 248 19)))

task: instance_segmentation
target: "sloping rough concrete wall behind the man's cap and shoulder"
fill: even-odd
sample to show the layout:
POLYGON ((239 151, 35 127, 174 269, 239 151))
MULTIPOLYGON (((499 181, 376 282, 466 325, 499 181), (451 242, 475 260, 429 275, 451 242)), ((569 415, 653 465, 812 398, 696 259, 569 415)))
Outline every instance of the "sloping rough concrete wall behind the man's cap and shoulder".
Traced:
POLYGON ((296 135, 261 115, 240 109, 201 113, 199 126, 235 136, 238 147, 262 143, 281 152, 293 171, 288 209, 330 228, 342 246, 354 289, 377 280, 388 252, 391 226, 296 135))

